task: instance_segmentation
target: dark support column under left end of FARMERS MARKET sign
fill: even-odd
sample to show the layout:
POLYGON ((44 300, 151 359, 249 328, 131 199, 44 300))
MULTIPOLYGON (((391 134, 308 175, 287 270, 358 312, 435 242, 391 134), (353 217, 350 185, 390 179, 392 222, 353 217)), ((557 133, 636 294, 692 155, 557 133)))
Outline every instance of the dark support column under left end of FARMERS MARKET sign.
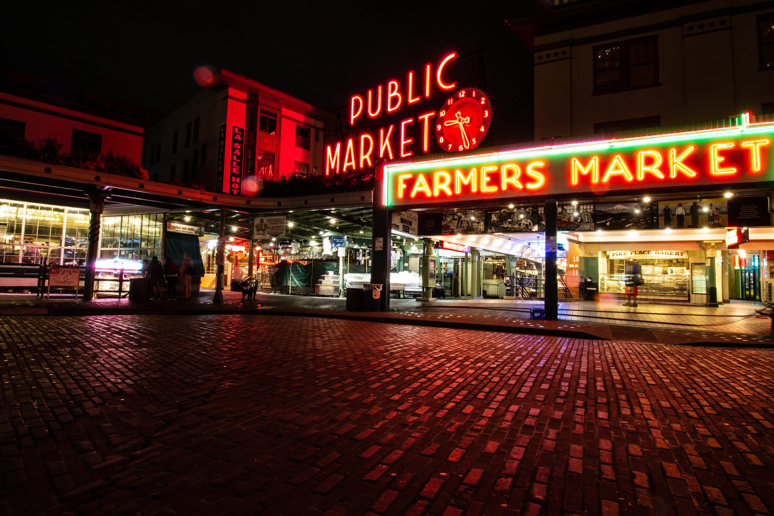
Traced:
POLYGON ((392 251, 392 221, 389 209, 382 204, 382 193, 386 188, 382 167, 378 166, 374 175, 374 225, 371 242, 371 282, 382 286, 379 309, 389 310, 389 271, 392 251))

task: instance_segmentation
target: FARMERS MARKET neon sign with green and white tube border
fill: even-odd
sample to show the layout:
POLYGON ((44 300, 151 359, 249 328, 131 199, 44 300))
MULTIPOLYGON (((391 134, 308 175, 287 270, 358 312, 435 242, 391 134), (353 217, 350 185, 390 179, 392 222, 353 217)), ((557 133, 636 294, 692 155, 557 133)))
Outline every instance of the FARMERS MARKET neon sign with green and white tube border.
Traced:
POLYGON ((546 145, 386 165, 382 202, 464 200, 774 180, 774 123, 546 145))

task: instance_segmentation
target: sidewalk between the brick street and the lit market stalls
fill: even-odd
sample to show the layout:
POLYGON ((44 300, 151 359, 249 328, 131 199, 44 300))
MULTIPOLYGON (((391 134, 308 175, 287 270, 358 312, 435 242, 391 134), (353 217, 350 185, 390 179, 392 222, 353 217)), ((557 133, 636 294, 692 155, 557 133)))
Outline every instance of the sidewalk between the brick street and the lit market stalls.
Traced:
POLYGON ((542 307, 540 301, 442 299, 422 303, 391 299, 389 312, 374 313, 347 312, 346 300, 341 298, 259 293, 255 303, 243 304, 240 292, 224 291, 221 303, 212 302, 212 296, 213 291, 204 290, 190 301, 96 299, 86 303, 71 297, 0 295, 0 316, 272 313, 557 337, 774 347, 771 321, 756 316, 755 309, 762 305, 753 302, 731 302, 717 308, 642 303, 632 308, 612 303, 560 302, 560 320, 539 321, 529 319, 529 308, 542 307))

